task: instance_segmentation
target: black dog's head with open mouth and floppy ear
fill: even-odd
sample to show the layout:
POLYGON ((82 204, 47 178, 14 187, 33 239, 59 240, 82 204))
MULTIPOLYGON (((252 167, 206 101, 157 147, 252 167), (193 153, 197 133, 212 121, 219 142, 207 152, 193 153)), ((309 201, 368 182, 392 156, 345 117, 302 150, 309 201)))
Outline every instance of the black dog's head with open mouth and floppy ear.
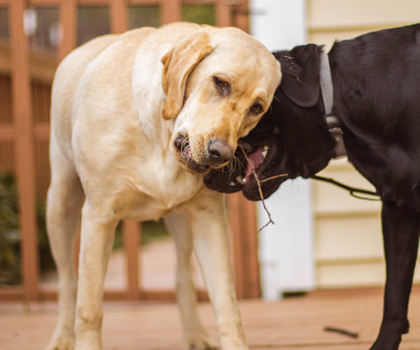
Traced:
POLYGON ((235 167, 216 169, 207 174, 208 188, 224 193, 242 190, 248 200, 261 200, 254 169, 264 198, 287 179, 308 178, 328 165, 334 155, 334 141, 323 121, 319 88, 317 45, 297 46, 275 52, 283 75, 269 111, 239 145, 235 167), (251 166, 249 165, 251 162, 251 166))

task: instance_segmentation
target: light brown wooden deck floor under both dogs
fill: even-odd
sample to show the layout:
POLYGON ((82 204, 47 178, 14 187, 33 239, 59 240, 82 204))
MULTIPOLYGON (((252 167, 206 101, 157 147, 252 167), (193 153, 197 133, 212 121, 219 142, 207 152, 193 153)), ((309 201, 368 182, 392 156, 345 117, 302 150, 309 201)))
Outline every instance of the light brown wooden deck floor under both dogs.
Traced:
MULTIPOLYGON (((342 290, 289 297, 279 302, 241 300, 246 338, 253 350, 367 350, 381 318, 382 290, 342 290), (357 332, 352 339, 325 326, 357 332)), ((43 349, 56 318, 57 305, 0 304, 0 349, 43 349)), ((211 305, 200 314, 216 341, 211 305)), ((420 349, 420 288, 412 294, 411 332, 400 350, 420 349)), ((104 350, 183 349, 181 325, 173 303, 107 302, 104 306, 104 350)))

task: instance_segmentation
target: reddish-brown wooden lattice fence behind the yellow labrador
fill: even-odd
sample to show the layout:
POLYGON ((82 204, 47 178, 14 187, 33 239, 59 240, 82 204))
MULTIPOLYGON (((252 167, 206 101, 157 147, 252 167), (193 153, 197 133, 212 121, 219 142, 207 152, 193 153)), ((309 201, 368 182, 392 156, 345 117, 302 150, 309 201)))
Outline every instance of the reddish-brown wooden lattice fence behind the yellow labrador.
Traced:
MULTIPOLYGON (((216 25, 240 27, 248 31, 246 0, 0 0, 8 12, 8 43, 0 44, 0 162, 17 176, 20 202, 22 286, 0 288, 0 300, 48 300, 56 291, 39 284, 36 232, 36 195, 45 195, 48 184, 48 110, 50 85, 59 59, 76 47, 79 6, 106 6, 111 32, 128 28, 128 6, 160 7, 162 24, 182 20, 186 4, 208 4, 215 8, 216 25), (57 57, 29 52, 24 29, 27 8, 57 8, 62 41, 57 57)), ((253 204, 241 195, 228 196, 233 269, 239 297, 258 297, 260 284, 257 259, 256 220, 253 204)), ((137 222, 123 223, 127 284, 125 290, 105 290, 114 300, 174 299, 174 292, 144 290, 139 285, 137 247, 141 229, 137 222)), ((199 293, 204 295, 203 293, 199 293)))

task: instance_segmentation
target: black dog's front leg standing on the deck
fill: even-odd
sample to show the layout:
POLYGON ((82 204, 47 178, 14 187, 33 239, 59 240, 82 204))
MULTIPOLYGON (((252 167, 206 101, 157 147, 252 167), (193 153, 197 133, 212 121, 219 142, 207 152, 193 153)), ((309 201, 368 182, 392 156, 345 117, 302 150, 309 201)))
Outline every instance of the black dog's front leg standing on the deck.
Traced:
POLYGON ((420 232, 419 213, 395 202, 382 205, 382 232, 386 260, 384 316, 377 341, 370 350, 398 350, 408 332, 408 300, 420 232))

